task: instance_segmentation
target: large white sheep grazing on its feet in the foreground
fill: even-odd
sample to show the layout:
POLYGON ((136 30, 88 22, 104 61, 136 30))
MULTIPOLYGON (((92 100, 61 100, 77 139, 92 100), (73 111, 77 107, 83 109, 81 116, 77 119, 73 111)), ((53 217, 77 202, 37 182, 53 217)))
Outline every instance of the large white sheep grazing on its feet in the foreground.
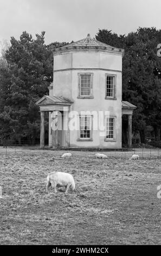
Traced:
POLYGON ((57 187, 66 187, 66 192, 68 192, 68 188, 70 190, 74 191, 75 189, 75 182, 73 179, 72 174, 69 173, 63 173, 63 172, 53 172, 49 173, 47 176, 47 193, 48 188, 52 186, 54 188, 54 192, 56 193, 56 186, 57 187))

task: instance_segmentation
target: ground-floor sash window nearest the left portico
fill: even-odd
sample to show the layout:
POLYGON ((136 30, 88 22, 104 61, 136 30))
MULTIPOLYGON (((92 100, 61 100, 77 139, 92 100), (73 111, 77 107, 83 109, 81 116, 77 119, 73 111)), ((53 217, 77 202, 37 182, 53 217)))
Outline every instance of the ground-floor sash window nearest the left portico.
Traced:
POLYGON ((92 138, 92 117, 80 116, 80 139, 92 138))

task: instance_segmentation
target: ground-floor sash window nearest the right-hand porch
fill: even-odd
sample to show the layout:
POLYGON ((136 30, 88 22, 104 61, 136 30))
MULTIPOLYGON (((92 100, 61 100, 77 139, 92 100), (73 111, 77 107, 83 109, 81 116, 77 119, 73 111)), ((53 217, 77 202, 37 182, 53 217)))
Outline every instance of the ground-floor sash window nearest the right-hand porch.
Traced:
POLYGON ((106 117, 106 140, 115 139, 115 118, 106 117))

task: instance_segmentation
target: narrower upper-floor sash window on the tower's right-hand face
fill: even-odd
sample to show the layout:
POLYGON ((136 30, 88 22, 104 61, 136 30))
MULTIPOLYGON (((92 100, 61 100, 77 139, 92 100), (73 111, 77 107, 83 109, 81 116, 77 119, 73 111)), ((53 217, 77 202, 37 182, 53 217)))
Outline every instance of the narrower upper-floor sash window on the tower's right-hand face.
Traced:
POLYGON ((116 98, 116 76, 106 75, 106 98, 116 98))

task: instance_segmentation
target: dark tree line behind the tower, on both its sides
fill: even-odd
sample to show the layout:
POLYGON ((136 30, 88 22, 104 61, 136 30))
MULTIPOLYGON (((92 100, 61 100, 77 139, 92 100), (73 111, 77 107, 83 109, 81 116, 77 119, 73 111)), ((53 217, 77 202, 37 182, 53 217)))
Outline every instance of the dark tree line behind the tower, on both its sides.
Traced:
MULTIPOLYGON (((0 59, 0 139, 36 142, 40 137, 40 113, 35 102, 48 94, 53 82, 51 49, 68 42, 44 44, 45 32, 36 39, 23 32, 20 39, 11 37, 10 46, 0 59)), ((137 106, 133 113, 133 134, 142 143, 153 132, 160 141, 161 129, 161 58, 157 45, 161 30, 138 28, 136 32, 118 35, 99 29, 95 38, 107 45, 124 48, 123 100, 137 106)), ((123 127, 126 118, 123 118, 123 127)), ((46 127, 48 124, 46 123, 46 127)), ((126 128, 123 129, 126 141, 126 128)))

